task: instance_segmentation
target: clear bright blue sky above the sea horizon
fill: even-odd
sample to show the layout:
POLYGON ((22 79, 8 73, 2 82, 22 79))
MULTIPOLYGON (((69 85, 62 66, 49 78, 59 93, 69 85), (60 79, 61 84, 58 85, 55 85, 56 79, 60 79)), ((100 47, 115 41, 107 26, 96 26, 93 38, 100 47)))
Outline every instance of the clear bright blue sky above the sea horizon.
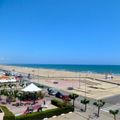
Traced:
POLYGON ((120 64, 120 0, 0 0, 0 63, 120 64))

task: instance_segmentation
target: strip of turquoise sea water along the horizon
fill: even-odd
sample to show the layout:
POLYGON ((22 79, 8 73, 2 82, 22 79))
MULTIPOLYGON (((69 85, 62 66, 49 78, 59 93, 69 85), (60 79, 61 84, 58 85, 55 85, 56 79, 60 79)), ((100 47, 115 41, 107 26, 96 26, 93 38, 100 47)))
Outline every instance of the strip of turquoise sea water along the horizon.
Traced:
POLYGON ((12 64, 13 66, 55 69, 75 72, 120 74, 120 65, 61 65, 61 64, 12 64))

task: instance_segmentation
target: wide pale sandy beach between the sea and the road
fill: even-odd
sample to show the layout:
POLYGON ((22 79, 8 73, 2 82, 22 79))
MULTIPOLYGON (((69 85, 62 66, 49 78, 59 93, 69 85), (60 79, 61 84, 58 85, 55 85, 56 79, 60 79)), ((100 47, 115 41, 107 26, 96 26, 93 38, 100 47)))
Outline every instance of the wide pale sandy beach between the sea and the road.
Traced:
POLYGON ((120 76, 117 75, 114 75, 112 80, 106 80, 104 74, 97 73, 78 73, 5 65, 0 65, 0 69, 39 75, 39 79, 32 79, 32 81, 93 99, 102 99, 120 93, 120 86, 116 85, 120 84, 120 76), (56 81, 58 83, 54 84, 56 81), (68 87, 73 87, 74 90, 68 90, 68 87))

